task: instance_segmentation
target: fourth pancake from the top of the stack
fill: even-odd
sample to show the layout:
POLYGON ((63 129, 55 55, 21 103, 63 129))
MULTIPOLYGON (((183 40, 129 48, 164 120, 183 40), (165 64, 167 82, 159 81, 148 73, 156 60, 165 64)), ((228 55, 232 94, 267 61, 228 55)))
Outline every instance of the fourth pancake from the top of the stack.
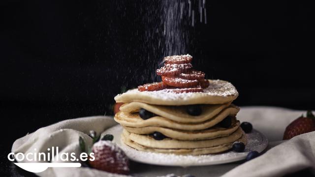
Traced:
POLYGON ((154 132, 160 132, 163 135, 177 140, 208 140, 218 137, 228 136, 240 126, 239 121, 233 122, 232 126, 229 128, 222 128, 220 126, 214 126, 212 128, 196 131, 185 131, 185 130, 176 130, 171 128, 148 126, 142 128, 134 127, 124 127, 128 132, 135 134, 152 134, 154 132))

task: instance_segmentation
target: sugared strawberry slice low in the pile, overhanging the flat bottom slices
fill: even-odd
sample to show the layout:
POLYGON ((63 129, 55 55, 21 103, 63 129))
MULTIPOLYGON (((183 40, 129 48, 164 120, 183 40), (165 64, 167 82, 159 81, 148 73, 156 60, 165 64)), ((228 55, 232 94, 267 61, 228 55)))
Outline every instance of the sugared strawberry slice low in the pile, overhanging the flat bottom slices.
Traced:
POLYGON ((198 80, 187 80, 182 78, 173 78, 173 77, 165 77, 162 76, 163 83, 167 84, 168 86, 172 87, 179 87, 179 88, 191 88, 199 85, 198 80))

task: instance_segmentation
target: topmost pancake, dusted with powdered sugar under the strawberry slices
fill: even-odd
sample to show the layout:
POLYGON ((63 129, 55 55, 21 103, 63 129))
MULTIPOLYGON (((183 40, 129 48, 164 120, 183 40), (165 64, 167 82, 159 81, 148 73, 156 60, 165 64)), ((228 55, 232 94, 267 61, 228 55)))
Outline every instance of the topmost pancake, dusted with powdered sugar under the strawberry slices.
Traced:
POLYGON ((235 100, 238 92, 235 87, 222 80, 209 80, 203 92, 172 93, 165 90, 138 91, 131 89, 115 96, 117 103, 142 102, 154 105, 224 104, 235 100))

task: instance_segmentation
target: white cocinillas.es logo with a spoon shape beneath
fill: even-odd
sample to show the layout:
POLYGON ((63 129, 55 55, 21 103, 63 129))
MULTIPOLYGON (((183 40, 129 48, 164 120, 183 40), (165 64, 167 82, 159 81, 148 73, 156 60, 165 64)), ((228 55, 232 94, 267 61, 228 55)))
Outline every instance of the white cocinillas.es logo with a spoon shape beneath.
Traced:
POLYGON ((79 161, 95 160, 93 152, 90 154, 82 152, 80 155, 75 152, 59 153, 58 147, 47 148, 46 152, 37 152, 36 150, 34 148, 34 152, 26 154, 11 152, 7 157, 12 162, 17 161, 14 164, 18 167, 32 173, 43 172, 49 167, 81 167, 79 161))

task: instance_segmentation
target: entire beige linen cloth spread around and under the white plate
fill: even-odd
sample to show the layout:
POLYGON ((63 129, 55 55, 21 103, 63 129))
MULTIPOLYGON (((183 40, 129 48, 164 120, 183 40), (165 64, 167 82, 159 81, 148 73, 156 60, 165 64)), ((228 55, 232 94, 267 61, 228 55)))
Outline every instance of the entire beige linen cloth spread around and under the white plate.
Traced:
MULTIPOLYGON (((240 162, 200 167, 164 167, 138 164, 135 176, 163 176, 174 173, 176 175, 191 174, 195 177, 222 176, 223 177, 278 177, 304 168, 315 169, 315 132, 303 134, 282 142, 286 125, 305 111, 293 111, 273 107, 243 107, 237 115, 241 121, 250 121, 253 127, 264 133, 269 139, 269 150, 263 155, 240 165, 240 162)), ((37 131, 16 140, 12 152, 28 153, 45 152, 47 148, 55 146, 62 152, 80 154, 79 136, 91 145, 92 140, 87 135, 90 130, 102 132, 116 125, 112 117, 96 116, 64 120, 56 124, 43 127, 37 131)), ((26 161, 24 161, 26 162, 26 161)), ((56 162, 56 161, 54 161, 56 162)), ((118 175, 98 171, 90 168, 48 168, 37 173, 41 177, 119 177, 118 175)))

